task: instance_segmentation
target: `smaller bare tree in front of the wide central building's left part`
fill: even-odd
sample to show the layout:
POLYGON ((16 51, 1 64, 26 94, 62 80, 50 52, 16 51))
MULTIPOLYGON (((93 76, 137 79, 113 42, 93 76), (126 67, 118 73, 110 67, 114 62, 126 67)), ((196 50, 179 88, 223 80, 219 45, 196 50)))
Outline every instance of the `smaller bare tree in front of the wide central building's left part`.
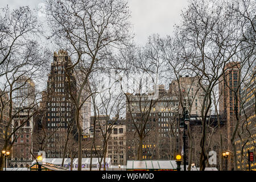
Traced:
POLYGON ((150 115, 156 114, 156 103, 162 97, 158 92, 158 82, 164 60, 158 42, 159 35, 152 35, 146 46, 129 49, 130 55, 124 59, 131 63, 131 69, 126 75, 127 83, 121 84, 121 89, 126 96, 127 122, 134 127, 135 138, 132 140, 138 139, 137 160, 142 160, 143 142, 155 127, 150 115))

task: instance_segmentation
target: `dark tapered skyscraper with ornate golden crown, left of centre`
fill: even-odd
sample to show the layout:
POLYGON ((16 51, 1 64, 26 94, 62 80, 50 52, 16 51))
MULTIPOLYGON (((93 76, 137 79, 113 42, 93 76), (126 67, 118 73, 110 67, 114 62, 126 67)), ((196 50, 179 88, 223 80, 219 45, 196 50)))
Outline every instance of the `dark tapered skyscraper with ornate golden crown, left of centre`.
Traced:
POLYGON ((71 99, 71 94, 76 94, 76 80, 73 69, 67 69, 71 66, 67 51, 54 52, 47 81, 46 128, 53 133, 46 151, 47 158, 61 158, 67 129, 73 126, 69 128, 71 136, 76 133, 75 107, 71 99))

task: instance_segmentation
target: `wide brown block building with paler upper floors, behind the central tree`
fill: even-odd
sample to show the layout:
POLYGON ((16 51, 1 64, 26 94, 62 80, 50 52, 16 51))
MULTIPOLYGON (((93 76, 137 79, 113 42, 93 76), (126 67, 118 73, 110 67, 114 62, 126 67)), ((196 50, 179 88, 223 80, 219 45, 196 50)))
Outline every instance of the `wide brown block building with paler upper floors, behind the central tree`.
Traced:
POLYGON ((156 100, 152 100, 150 94, 126 93, 127 160, 137 159, 136 127, 147 135, 142 144, 142 159, 171 159, 171 154, 179 150, 176 121, 179 100, 163 85, 159 85, 158 93, 156 100))

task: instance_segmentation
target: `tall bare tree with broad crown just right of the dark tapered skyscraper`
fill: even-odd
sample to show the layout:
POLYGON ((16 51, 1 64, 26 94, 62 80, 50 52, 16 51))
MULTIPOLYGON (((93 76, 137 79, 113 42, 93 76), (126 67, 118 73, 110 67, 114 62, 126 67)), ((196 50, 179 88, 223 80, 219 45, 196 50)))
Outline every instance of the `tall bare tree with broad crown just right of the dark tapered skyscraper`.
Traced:
POLYGON ((129 35, 129 11, 125 1, 47 1, 47 14, 53 35, 66 42, 65 49, 75 53, 79 63, 86 69, 81 88, 72 100, 76 106, 76 125, 79 135, 79 162, 81 170, 82 128, 79 122, 82 89, 97 65, 106 61, 116 47, 126 44, 129 35))

